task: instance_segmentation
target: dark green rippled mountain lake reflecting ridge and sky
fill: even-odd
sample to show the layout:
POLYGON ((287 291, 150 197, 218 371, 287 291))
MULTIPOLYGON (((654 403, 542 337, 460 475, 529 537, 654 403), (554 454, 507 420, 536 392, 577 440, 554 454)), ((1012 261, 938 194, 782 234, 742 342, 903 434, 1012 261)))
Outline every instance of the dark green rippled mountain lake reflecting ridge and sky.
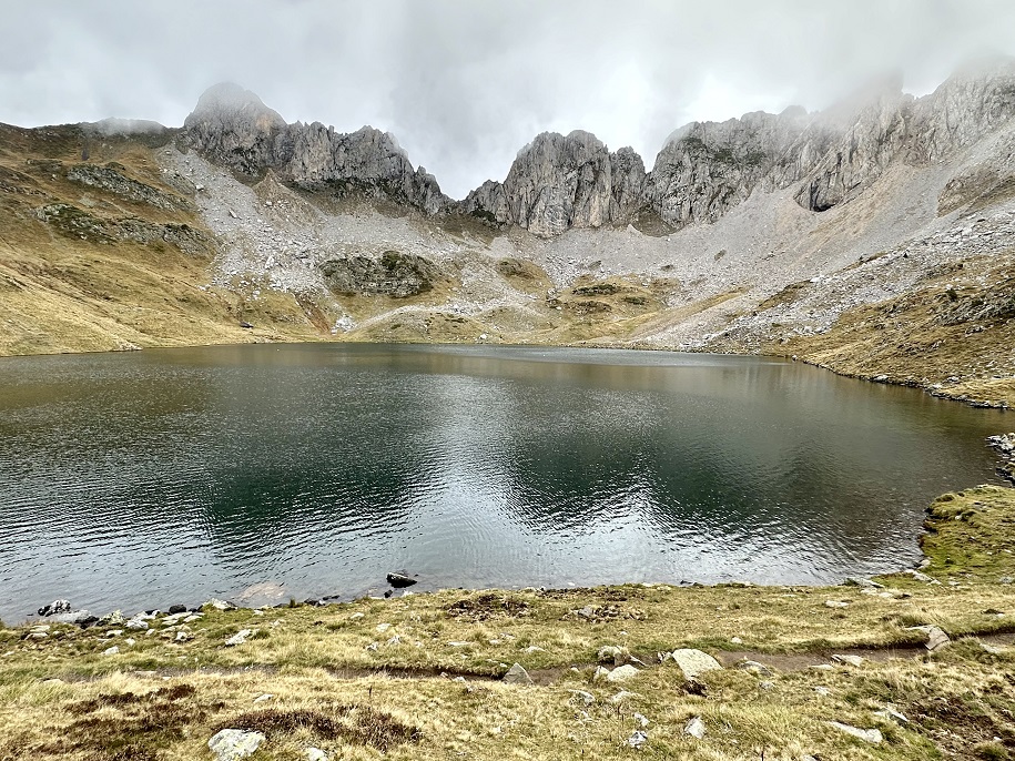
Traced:
POLYGON ((283 345, 0 361, 0 617, 384 588, 836 581, 1003 413, 781 361, 283 345))

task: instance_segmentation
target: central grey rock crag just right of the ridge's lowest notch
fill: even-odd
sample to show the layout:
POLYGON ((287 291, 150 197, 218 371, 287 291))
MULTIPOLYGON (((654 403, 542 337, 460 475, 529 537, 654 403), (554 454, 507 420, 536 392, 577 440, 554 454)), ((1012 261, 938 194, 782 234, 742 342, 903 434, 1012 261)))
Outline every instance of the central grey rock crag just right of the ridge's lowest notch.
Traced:
POLYGON ((519 151, 504 183, 487 181, 461 206, 540 236, 627 222, 643 205, 644 164, 630 148, 610 153, 588 132, 544 132, 519 151))

